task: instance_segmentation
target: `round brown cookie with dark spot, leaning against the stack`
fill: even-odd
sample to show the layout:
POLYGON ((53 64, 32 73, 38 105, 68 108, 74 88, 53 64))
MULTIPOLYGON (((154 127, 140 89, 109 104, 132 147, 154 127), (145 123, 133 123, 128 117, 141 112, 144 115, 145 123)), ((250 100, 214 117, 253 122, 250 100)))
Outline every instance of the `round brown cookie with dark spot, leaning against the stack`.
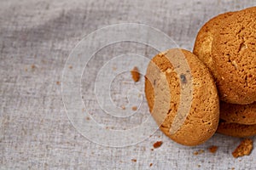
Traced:
MULTIPOLYGON (((195 54, 183 49, 170 49, 165 53, 157 54, 148 64, 145 77, 145 94, 148 100, 149 111, 160 126, 160 130, 166 136, 184 145, 201 144, 212 137, 216 132, 219 120, 218 91, 212 75, 195 54), (182 126, 178 128, 176 133, 170 133, 172 124, 177 116, 177 109, 180 106, 181 83, 186 82, 186 79, 184 77, 179 79, 177 72, 166 56, 171 55, 175 57, 178 53, 185 56, 190 67, 193 77, 193 94, 191 94, 193 95, 193 100, 188 116, 185 116, 182 126), (154 74, 155 68, 153 65, 156 65, 160 72, 166 75, 169 94, 161 95, 160 92, 154 91, 159 82, 163 82, 164 80, 160 78, 160 73, 154 74), (152 76, 153 74, 154 76, 152 76), (150 81, 148 77, 151 77, 150 81), (170 96, 170 103, 155 104, 157 99, 166 101, 170 96), (166 106, 169 109, 164 114, 161 114, 160 109, 166 108, 166 106), (160 116, 164 118, 163 122, 159 121, 160 116)), ((168 89, 164 90, 168 91, 168 89)))

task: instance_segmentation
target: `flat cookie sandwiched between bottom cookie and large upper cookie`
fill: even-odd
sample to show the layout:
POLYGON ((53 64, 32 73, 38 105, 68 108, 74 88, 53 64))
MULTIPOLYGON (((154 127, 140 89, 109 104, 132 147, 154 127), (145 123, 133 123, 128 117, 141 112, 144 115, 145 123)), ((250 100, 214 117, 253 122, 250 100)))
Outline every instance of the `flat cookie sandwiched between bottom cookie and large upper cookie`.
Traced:
POLYGON ((219 117, 225 122, 245 125, 256 124, 256 102, 249 105, 237 105, 221 101, 219 108, 219 117))

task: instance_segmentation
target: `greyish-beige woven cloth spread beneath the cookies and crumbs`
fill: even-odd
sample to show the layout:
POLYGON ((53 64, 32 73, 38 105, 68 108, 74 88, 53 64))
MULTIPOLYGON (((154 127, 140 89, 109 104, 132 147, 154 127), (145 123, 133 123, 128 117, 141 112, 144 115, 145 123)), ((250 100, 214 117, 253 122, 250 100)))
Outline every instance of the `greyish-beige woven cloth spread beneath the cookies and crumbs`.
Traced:
MULTIPOLYGON (((220 134, 196 147, 176 144, 159 130, 126 147, 96 144, 90 138, 97 135, 102 141, 111 141, 112 146, 121 145, 122 141, 110 140, 107 133, 94 133, 94 128, 84 137, 68 119, 61 95, 62 71, 68 55, 92 31, 119 23, 141 23, 166 33, 178 47, 191 50, 197 31, 207 20, 219 13, 253 5, 256 5, 254 0, 2 1, 0 169, 256 169, 256 150, 250 156, 235 159, 231 153, 241 139, 220 134), (163 144, 152 150, 156 141, 163 144), (207 150, 212 145, 218 146, 215 154, 207 150), (200 153, 197 156, 196 151, 200 153)), ((120 42, 102 48, 90 60, 87 71, 92 76, 84 72, 81 93, 84 105, 90 107, 90 115, 99 126, 124 130, 148 117, 145 100, 137 115, 128 120, 101 115, 103 112, 97 112, 98 104, 90 100, 93 90, 89 90, 94 89, 90 80, 96 78, 110 59, 106 54, 117 55, 125 50, 143 54, 143 49, 142 44, 120 42)), ((148 48, 144 55, 150 58, 154 53, 154 49, 148 48)), ((126 68, 128 61, 134 60, 116 63, 113 71, 126 68)), ((139 69, 144 68, 142 65, 137 63, 139 69)), ((76 65, 70 69, 75 71, 76 65)), ((124 97, 127 89, 137 88, 143 96, 143 78, 135 84, 128 71, 116 77, 110 88, 113 102, 121 107, 127 102, 124 97)), ((132 138, 141 137, 138 135, 141 133, 134 133, 132 138)), ((254 145, 255 141, 254 138, 254 145)))

